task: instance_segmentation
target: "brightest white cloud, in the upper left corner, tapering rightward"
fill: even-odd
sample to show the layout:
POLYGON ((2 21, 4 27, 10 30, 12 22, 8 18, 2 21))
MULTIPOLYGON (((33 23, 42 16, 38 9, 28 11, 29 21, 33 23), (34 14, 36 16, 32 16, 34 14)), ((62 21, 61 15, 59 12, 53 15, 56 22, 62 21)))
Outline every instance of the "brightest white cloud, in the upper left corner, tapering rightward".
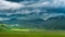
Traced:
POLYGON ((24 7, 24 5, 16 3, 16 2, 0 0, 0 10, 9 10, 9 9, 14 10, 14 9, 18 9, 21 7, 24 7))

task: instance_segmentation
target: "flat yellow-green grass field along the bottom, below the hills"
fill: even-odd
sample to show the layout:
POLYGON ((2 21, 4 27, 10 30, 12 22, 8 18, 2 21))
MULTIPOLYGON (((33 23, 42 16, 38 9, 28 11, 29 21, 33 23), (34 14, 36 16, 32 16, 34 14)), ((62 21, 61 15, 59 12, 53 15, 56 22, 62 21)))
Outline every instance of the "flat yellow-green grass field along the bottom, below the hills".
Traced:
POLYGON ((65 30, 11 30, 0 33, 0 37, 65 37, 65 30))

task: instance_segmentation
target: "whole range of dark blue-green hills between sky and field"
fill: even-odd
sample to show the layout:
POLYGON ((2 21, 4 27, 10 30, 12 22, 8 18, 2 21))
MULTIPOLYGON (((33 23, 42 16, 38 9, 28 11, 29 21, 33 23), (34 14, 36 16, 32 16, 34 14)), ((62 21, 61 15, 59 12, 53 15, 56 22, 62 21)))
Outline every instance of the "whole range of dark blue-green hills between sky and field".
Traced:
POLYGON ((13 25, 18 28, 47 28, 47 29, 65 29, 65 16, 50 17, 44 21, 42 18, 36 20, 16 20, 0 22, 2 24, 13 25))

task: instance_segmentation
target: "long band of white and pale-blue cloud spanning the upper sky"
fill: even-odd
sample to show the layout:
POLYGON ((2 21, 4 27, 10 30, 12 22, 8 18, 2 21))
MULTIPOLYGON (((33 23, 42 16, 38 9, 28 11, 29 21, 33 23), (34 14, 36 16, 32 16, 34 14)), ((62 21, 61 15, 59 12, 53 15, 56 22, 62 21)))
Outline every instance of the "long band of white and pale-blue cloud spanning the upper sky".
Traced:
POLYGON ((40 8, 40 7, 50 7, 50 8, 58 8, 58 7, 65 7, 65 0, 40 0, 36 3, 24 5, 24 3, 17 3, 17 2, 10 2, 5 0, 0 0, 0 10, 9 10, 9 9, 20 9, 20 8, 26 8, 26 7, 32 7, 32 8, 40 8))

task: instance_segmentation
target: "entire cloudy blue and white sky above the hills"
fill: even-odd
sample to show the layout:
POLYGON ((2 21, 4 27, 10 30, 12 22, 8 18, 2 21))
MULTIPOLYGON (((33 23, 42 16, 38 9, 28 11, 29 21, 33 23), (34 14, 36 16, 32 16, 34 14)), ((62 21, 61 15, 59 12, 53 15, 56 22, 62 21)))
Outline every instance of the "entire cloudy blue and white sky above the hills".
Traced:
POLYGON ((0 21, 10 20, 12 17, 22 20, 65 16, 65 0, 0 0, 0 21), (40 15, 41 13, 41 15, 40 15), (17 14, 25 15, 17 17, 17 14))

